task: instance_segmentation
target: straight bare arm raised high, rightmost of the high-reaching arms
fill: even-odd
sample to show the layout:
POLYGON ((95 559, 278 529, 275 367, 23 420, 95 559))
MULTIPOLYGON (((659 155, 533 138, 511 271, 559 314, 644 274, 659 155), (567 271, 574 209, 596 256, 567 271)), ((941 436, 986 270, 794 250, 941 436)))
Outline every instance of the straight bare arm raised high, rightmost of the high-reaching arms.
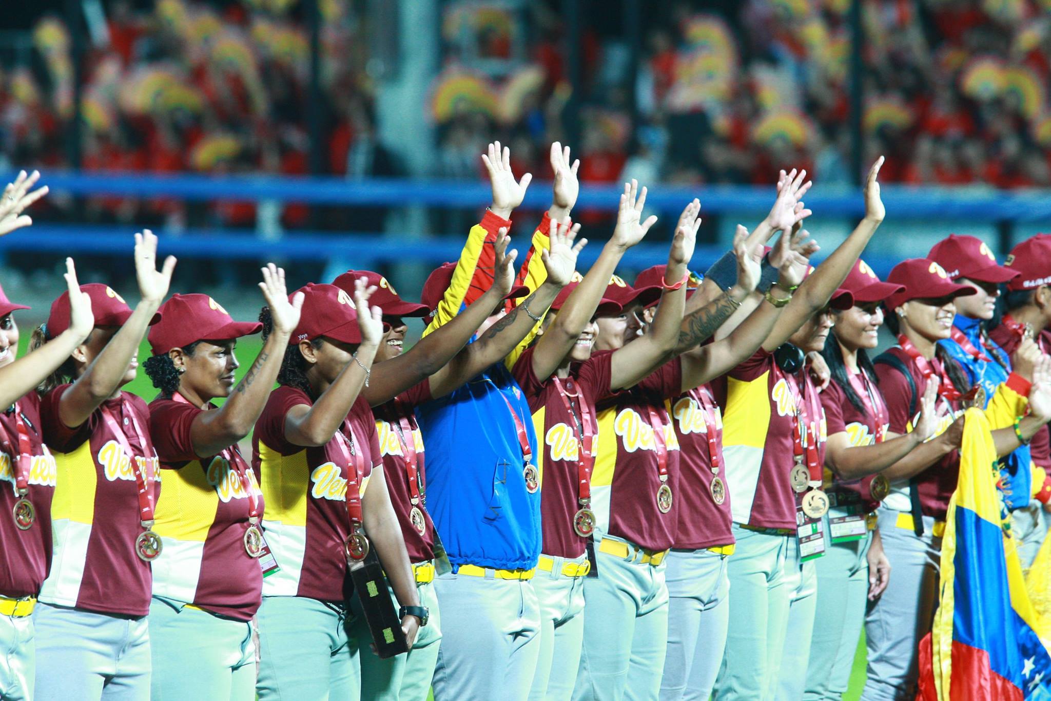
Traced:
POLYGON ((784 313, 778 318, 774 331, 763 344, 763 348, 767 351, 777 350, 806 323, 806 319, 828 304, 836 288, 846 280, 850 267, 861 256, 865 246, 883 222, 886 209, 880 200, 880 183, 877 180, 882 165, 881 156, 869 169, 865 181, 865 218, 846 241, 840 244, 800 286, 784 313))

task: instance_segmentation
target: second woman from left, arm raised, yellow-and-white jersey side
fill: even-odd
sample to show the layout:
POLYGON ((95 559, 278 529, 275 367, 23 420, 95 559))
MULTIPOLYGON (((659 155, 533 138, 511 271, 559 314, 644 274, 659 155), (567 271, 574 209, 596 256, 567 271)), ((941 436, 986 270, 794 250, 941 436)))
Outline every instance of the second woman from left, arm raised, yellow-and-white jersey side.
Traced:
MULTIPOLYGON (((157 236, 135 238, 140 301, 135 311, 105 285, 84 285, 95 328, 40 386, 44 439, 58 463, 51 499, 51 569, 34 613, 37 696, 149 696, 146 615, 160 475, 146 433, 149 412, 122 387, 138 372, 139 344, 168 293, 176 260, 157 270, 157 236), (62 674, 55 674, 62 669, 62 674)), ((71 323, 68 292, 33 334, 43 347, 71 323)))

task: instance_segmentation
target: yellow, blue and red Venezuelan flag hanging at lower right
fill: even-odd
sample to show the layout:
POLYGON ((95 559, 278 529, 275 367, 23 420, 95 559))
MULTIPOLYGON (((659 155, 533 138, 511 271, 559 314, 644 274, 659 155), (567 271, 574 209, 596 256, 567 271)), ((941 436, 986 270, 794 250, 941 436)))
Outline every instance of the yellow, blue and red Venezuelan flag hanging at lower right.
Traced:
POLYGON ((1051 700, 1051 654, 1040 641, 1015 543, 1002 528, 989 421, 967 411, 960 482, 942 540, 931 633, 920 643, 922 701, 1051 700))

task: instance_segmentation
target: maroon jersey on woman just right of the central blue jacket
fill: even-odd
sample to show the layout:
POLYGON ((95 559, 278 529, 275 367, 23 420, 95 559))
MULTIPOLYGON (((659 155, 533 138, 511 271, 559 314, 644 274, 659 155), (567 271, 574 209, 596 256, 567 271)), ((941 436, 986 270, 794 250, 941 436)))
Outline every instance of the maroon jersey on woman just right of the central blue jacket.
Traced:
POLYGON ((560 380, 570 401, 566 410, 554 378, 540 379, 533 372, 534 348, 527 349, 515 363, 513 373, 533 412, 539 454, 540 516, 542 552, 552 557, 577 558, 584 554, 588 540, 573 528, 579 502, 581 404, 588 407, 593 451, 598 446, 595 401, 610 393, 612 352, 599 352, 584 363, 575 363, 570 376, 560 380))

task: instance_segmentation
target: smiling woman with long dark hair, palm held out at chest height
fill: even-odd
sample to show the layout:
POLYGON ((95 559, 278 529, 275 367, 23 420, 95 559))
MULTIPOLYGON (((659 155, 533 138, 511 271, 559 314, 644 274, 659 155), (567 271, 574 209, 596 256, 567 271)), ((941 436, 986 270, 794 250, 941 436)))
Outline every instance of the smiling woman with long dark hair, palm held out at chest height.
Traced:
POLYGON ((816 561, 818 611, 804 699, 839 699, 847 689, 858 637, 868 601, 887 587, 890 563, 877 530, 877 509, 889 493, 884 470, 934 433, 936 385, 927 383, 914 431, 887 438, 887 403, 880 391, 868 351, 877 347, 883 311, 880 304, 905 291, 881 282, 859 260, 841 285, 853 297, 849 309, 832 312, 834 327, 823 357, 830 382, 821 392, 828 442, 823 489, 828 494, 825 555, 816 561))

